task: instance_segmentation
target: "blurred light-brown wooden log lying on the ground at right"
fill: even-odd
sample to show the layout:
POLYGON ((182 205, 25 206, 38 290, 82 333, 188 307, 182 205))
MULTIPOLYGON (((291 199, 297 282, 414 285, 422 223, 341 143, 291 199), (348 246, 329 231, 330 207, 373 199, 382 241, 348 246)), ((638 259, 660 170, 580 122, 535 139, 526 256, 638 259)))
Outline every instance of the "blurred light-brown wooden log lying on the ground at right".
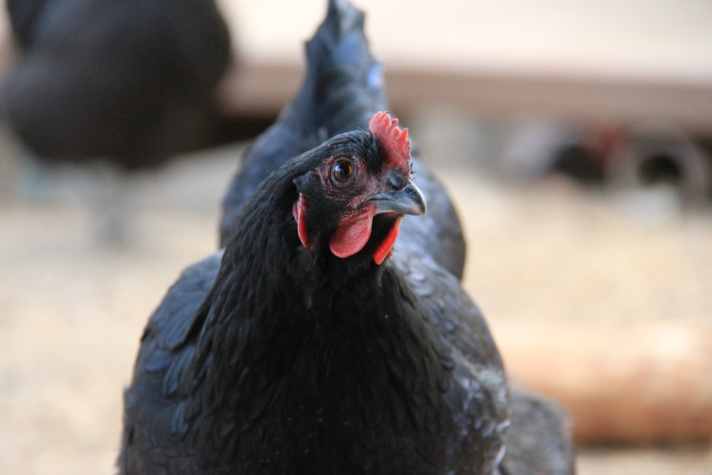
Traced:
POLYGON ((577 442, 712 440, 712 328, 499 324, 513 380, 561 402, 577 442))

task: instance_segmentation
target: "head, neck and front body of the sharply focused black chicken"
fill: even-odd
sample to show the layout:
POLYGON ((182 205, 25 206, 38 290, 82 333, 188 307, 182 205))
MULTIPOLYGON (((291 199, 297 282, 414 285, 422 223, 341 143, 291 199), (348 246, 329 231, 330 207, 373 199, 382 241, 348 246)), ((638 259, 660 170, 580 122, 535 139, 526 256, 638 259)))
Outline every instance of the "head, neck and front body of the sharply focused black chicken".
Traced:
POLYGON ((269 174, 152 315, 122 474, 491 474, 508 385, 476 306, 400 249, 425 213, 387 114, 269 174), (418 216, 414 216, 419 219, 418 216))

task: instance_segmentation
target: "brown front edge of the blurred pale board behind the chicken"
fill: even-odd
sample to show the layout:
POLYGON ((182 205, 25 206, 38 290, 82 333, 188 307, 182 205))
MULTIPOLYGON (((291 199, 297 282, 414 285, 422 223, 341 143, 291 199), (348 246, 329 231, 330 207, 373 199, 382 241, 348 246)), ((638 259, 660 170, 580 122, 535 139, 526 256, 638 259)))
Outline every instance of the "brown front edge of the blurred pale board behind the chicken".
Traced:
MULTIPOLYGON (((302 78, 297 64, 244 62, 223 85, 229 113, 275 114, 302 78)), ((392 108, 450 105, 482 115, 541 115, 592 125, 656 122, 691 133, 712 134, 712 81, 511 75, 488 71, 434 71, 387 68, 392 108)))

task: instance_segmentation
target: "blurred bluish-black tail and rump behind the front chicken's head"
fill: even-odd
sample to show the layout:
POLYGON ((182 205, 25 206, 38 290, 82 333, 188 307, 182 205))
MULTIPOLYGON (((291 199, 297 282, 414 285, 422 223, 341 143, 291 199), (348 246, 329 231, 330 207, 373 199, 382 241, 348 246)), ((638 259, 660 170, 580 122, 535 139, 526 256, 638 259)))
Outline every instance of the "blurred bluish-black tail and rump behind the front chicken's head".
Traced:
MULTIPOLYGON (((283 162, 342 132, 366 129, 379 110, 387 110, 382 66, 370 53, 364 15, 345 0, 330 0, 325 21, 306 44, 307 71, 293 101, 277 122, 248 148, 223 202, 221 245, 229 241, 235 216, 267 174, 283 162)), ((460 221, 444 187, 420 160, 412 163, 430 213, 403 220, 411 236, 401 246, 429 249, 437 263, 461 277, 465 241, 460 221)))

